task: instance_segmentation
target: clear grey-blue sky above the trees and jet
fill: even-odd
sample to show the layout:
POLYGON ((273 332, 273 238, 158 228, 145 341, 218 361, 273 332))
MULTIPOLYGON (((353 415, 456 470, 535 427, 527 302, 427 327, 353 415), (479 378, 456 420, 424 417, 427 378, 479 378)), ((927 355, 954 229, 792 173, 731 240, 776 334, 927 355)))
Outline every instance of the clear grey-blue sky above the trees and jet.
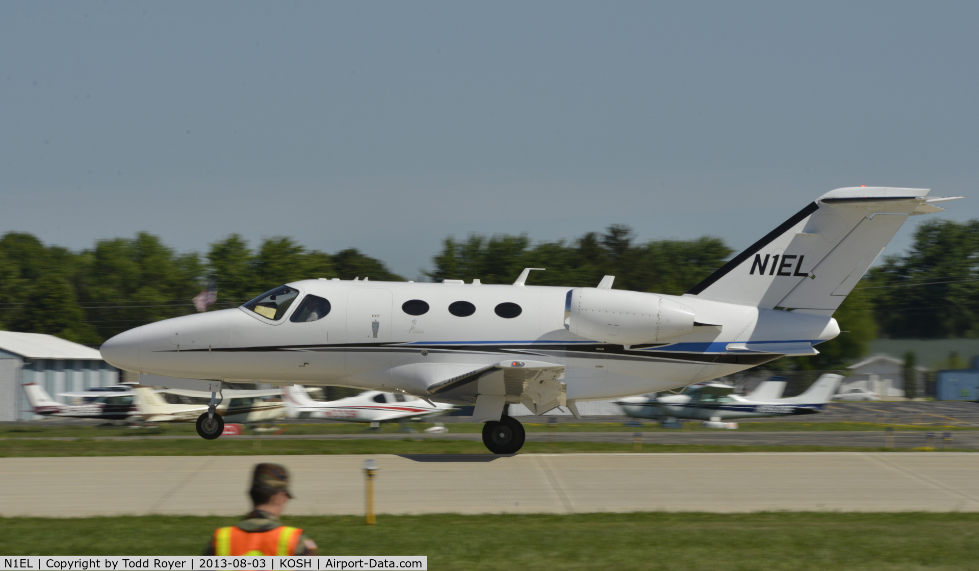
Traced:
POLYGON ((977 27, 976 2, 4 3, 0 231, 291 235, 407 277, 469 232, 744 248, 840 186, 975 194, 977 27))

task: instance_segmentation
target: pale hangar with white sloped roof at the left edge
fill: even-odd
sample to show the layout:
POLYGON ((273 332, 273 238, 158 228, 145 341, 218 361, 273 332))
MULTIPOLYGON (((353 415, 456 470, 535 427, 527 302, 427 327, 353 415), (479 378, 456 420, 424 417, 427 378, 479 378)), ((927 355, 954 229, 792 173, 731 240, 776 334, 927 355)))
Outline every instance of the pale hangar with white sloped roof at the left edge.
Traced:
POLYGON ((58 393, 116 385, 119 372, 97 350, 54 335, 0 331, 0 421, 34 418, 23 385, 36 383, 53 399, 58 393))

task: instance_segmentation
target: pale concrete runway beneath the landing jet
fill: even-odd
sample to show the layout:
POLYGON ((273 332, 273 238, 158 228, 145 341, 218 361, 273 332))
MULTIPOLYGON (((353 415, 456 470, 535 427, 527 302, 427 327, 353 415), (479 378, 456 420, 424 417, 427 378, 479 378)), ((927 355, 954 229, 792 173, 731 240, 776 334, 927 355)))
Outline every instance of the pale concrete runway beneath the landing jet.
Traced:
MULTIPOLYGON (((259 461, 293 514, 363 512, 363 455, 0 458, 0 515, 243 513, 259 461)), ((374 456, 381 513, 979 511, 979 454, 772 452, 374 456)))

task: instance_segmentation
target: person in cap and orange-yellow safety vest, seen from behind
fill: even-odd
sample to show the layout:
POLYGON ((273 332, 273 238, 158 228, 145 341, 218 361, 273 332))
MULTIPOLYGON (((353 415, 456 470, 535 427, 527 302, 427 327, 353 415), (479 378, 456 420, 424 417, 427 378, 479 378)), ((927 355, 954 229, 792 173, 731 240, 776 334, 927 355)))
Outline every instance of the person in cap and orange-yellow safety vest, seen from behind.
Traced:
POLYGON ((214 530, 205 555, 316 555, 316 544, 303 530, 279 523, 289 493, 289 471, 280 464, 256 464, 252 511, 230 527, 214 530))

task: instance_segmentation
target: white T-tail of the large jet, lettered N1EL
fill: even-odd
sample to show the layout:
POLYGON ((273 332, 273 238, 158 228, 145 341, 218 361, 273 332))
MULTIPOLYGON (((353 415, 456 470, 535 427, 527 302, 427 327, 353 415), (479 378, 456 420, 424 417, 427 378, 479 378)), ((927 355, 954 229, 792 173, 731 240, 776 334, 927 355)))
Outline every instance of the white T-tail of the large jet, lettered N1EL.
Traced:
POLYGON ((909 215, 941 212, 925 188, 827 192, 686 293, 762 309, 831 315, 909 215))

